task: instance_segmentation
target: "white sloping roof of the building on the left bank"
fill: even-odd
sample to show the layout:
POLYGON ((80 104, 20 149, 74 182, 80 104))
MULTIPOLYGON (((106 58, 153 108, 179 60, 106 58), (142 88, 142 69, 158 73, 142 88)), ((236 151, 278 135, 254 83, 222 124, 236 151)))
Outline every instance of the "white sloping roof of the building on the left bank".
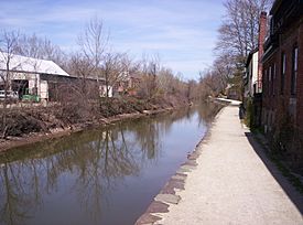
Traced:
POLYGON ((10 57, 7 53, 0 52, 0 71, 7 69, 7 62, 10 58, 10 71, 35 73, 35 74, 52 74, 69 76, 53 61, 40 60, 34 57, 25 57, 21 55, 11 54, 10 57))

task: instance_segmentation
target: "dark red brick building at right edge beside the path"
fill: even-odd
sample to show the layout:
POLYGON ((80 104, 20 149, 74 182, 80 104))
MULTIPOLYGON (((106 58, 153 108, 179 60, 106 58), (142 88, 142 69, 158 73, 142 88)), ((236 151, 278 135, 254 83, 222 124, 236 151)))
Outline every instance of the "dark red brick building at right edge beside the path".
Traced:
POLYGON ((262 125, 273 139, 284 132, 293 141, 303 129, 303 0, 275 0, 270 17, 262 56, 262 125))

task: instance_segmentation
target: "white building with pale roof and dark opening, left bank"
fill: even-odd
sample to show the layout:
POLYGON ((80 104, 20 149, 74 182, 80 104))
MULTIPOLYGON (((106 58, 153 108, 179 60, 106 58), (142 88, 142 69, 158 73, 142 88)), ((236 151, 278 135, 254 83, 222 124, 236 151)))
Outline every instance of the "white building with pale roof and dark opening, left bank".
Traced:
POLYGON ((37 95, 43 100, 48 99, 48 83, 41 76, 65 76, 69 75, 53 61, 25 57, 0 52, 0 89, 7 77, 7 64, 9 65, 8 83, 10 89, 24 94, 37 95))

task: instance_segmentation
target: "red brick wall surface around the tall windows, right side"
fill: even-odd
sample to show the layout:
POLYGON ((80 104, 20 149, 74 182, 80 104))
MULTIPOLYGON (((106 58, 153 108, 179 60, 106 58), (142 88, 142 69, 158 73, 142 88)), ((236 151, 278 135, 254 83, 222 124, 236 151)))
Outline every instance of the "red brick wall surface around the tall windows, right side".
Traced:
POLYGON ((294 109, 294 115, 292 120, 294 125, 303 129, 303 23, 296 24, 294 28, 290 28, 288 32, 280 35, 280 46, 277 49, 274 54, 263 63, 263 115, 262 124, 270 126, 270 120, 273 121, 273 125, 278 122, 281 118, 281 115, 285 114, 284 110, 292 111, 294 109), (296 96, 291 96, 291 76, 292 76, 292 52, 294 45, 299 46, 299 62, 297 62, 297 79, 296 79, 296 96), (286 55, 286 71, 284 78, 284 92, 281 94, 281 64, 282 64, 282 53, 286 55), (269 82, 269 67, 275 63, 275 79, 269 82), (275 95, 269 90, 270 85, 274 85, 275 95), (291 107, 290 103, 293 103, 295 99, 295 107, 291 107))

